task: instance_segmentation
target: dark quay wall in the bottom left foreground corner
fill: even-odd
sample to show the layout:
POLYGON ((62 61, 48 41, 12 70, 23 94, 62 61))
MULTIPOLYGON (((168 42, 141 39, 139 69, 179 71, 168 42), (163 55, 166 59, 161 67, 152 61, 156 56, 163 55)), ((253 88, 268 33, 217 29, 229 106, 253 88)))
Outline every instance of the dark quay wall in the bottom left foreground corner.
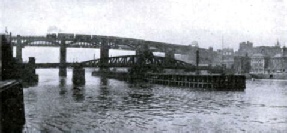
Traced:
POLYGON ((0 81, 0 132, 22 132, 25 109, 22 84, 16 80, 0 81))

